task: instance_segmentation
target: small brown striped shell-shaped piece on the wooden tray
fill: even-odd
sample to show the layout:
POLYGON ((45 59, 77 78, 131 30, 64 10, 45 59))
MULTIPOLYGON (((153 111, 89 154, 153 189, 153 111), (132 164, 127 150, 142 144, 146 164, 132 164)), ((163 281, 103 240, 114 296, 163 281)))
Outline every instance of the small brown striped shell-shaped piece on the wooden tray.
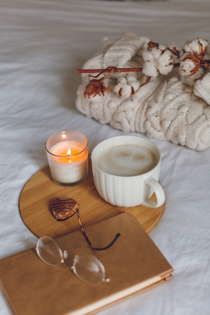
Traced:
POLYGON ((73 216, 79 207, 79 203, 73 198, 57 198, 51 202, 51 211, 57 221, 63 221, 73 216))

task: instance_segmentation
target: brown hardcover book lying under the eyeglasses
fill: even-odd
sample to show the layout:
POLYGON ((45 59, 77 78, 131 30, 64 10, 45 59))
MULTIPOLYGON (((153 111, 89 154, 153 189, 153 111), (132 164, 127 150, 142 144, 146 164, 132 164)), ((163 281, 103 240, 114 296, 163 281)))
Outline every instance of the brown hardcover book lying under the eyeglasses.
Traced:
POLYGON ((89 284, 71 268, 76 254, 93 254, 80 230, 56 242, 68 251, 64 264, 45 264, 35 248, 0 260, 0 280, 16 315, 82 315, 95 312, 172 277, 172 266, 128 211, 85 227, 110 282, 89 284))

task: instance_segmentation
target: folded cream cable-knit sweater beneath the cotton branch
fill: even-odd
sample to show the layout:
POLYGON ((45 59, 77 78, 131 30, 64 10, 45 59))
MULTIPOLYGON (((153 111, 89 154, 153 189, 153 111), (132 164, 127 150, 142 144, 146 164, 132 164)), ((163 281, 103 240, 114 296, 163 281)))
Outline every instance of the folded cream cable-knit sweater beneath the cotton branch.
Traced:
MULTIPOLYGON (((142 67, 142 48, 147 37, 124 34, 116 41, 104 39, 99 51, 83 66, 99 69, 108 66, 142 67)), ((209 49, 209 47, 208 47, 209 49)), ((101 76, 100 76, 101 78, 101 76)), ((110 124, 123 131, 137 131, 149 137, 170 140, 194 150, 210 146, 210 72, 195 82, 185 85, 173 69, 168 75, 159 74, 133 95, 127 95, 128 82, 146 81, 142 72, 112 73, 106 80, 110 91, 104 96, 84 98, 84 91, 92 78, 82 74, 76 107, 89 118, 110 124), (124 87, 125 94, 118 93, 124 87)))

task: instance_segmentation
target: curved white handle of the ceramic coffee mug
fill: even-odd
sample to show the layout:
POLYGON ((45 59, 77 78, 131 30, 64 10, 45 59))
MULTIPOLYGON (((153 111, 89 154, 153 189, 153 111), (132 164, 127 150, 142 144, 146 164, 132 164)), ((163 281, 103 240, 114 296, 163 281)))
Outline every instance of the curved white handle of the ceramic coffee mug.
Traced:
POLYGON ((157 201, 153 202, 147 199, 144 202, 142 202, 142 205, 150 207, 150 208, 158 208, 162 206, 162 204, 165 201, 165 193, 162 186, 159 184, 159 182, 157 182, 153 177, 149 177, 148 179, 146 179, 145 184, 152 187, 156 195, 157 201))

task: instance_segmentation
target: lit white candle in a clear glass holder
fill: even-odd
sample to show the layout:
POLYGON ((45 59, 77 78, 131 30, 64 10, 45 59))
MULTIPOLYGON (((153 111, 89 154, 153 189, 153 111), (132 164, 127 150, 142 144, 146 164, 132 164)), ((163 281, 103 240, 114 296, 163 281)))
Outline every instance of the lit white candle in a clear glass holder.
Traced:
POLYGON ((88 138, 76 131, 61 131, 45 142, 52 181, 62 187, 82 184, 88 175, 88 138))

